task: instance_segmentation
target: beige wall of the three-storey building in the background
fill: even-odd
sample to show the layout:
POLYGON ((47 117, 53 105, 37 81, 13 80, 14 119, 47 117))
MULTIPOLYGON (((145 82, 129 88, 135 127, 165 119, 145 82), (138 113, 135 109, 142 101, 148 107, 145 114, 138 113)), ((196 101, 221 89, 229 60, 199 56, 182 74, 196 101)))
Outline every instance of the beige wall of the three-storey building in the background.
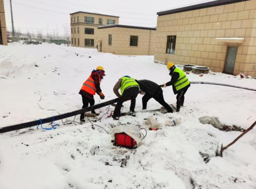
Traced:
POLYGON ((94 47, 86 47, 86 48, 96 48, 97 46, 97 39, 98 39, 98 26, 99 25, 99 18, 102 18, 103 23, 102 26, 107 25, 107 19, 115 20, 116 24, 119 22, 118 17, 110 17, 110 16, 103 16, 103 15, 94 15, 88 13, 77 13, 74 15, 70 15, 70 22, 72 19, 71 28, 73 28, 73 33, 71 34, 71 39, 73 40, 76 38, 76 45, 77 47, 85 47, 85 39, 94 39, 94 47), (74 22, 74 17, 76 17, 76 22, 74 22), (79 17, 79 22, 77 23, 77 17, 79 17), (85 17, 94 17, 94 24, 86 24, 85 17), (76 33, 74 33, 74 28, 76 28, 76 33), (79 34, 77 33, 77 28, 79 28, 79 34), (85 28, 94 28, 94 35, 85 34, 85 28), (77 44, 77 39, 79 38, 79 45, 77 44))

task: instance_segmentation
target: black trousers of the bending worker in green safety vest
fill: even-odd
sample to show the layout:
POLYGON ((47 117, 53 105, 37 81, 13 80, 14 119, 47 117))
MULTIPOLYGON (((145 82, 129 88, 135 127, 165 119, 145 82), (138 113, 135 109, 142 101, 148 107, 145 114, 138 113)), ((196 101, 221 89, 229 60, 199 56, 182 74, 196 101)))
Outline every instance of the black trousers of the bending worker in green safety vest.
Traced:
POLYGON ((139 93, 138 87, 131 87, 126 89, 123 92, 123 95, 117 101, 113 116, 114 117, 120 116, 120 110, 121 110, 122 104, 127 100, 131 100, 130 111, 134 111, 135 105, 136 105, 136 97, 138 96, 138 93, 139 93))

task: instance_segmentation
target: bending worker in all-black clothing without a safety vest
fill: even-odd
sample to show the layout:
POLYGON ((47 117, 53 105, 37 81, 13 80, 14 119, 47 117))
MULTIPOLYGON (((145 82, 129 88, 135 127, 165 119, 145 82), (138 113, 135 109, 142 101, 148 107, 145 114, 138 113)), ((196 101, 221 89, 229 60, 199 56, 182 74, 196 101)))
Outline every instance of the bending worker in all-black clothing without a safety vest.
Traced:
POLYGON ((142 97, 142 109, 147 109, 147 101, 153 98, 160 105, 164 106, 167 112, 172 113, 173 110, 171 107, 164 101, 163 90, 162 88, 155 82, 149 80, 135 80, 140 85, 140 90, 142 90, 145 95, 142 97))

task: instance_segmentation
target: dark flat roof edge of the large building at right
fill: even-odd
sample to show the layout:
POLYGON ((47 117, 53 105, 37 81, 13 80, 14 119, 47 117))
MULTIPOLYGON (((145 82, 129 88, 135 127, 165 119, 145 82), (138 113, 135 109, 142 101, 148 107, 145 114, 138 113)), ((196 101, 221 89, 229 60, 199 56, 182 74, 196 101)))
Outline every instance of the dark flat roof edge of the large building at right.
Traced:
POLYGON ((174 13, 181 13, 181 12, 185 12, 185 11, 193 11, 193 10, 204 9, 204 8, 208 8, 208 7, 228 5, 228 4, 239 3, 239 2, 243 2, 243 1, 250 1, 250 0, 217 0, 217 1, 210 1, 210 2, 208 1, 205 3, 201 3, 201 4, 195 4, 195 5, 170 9, 167 11, 161 11, 161 12, 158 12, 157 15, 158 16, 170 15, 170 14, 174 14, 174 13))

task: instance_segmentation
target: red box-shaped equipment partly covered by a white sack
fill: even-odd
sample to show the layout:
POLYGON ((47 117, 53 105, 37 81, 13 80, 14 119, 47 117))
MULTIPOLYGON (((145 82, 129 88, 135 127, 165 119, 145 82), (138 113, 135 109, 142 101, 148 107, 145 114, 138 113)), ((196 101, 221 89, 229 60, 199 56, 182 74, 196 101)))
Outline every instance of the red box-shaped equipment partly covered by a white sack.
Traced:
POLYGON ((115 134, 115 143, 116 146, 122 146, 125 148, 137 148, 136 141, 131 138, 128 134, 124 132, 115 134))

